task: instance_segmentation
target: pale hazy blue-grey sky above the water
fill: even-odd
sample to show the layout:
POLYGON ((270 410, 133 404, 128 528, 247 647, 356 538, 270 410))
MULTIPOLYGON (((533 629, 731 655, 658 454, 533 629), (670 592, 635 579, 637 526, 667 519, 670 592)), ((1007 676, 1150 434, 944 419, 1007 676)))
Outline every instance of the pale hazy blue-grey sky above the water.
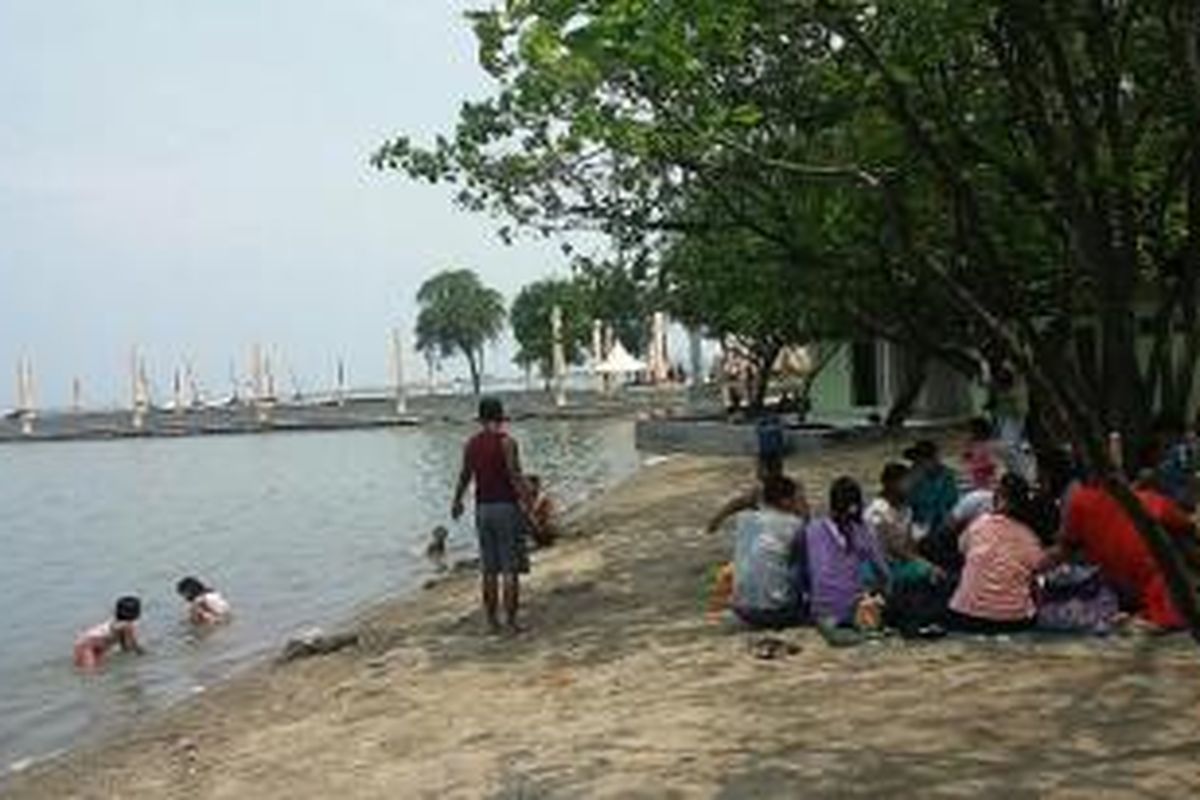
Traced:
POLYGON ((486 1, 0 0, 0 408, 22 354, 42 404, 73 375, 127 402, 133 344, 160 396, 184 357, 227 391, 256 341, 307 390, 340 354, 379 384, 431 272, 509 299, 564 272, 367 164, 486 92, 461 16, 486 1))

